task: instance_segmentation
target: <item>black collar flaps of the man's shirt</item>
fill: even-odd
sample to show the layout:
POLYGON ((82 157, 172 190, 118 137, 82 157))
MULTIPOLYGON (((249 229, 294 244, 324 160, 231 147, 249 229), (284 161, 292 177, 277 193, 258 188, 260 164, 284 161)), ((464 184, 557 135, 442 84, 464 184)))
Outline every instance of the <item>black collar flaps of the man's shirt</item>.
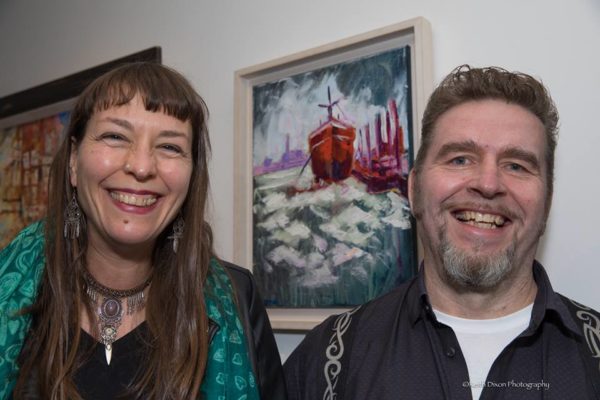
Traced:
MULTIPOLYGON (((535 332, 544 319, 554 319, 559 321, 564 327, 576 335, 581 335, 581 331, 571 317, 571 313, 558 293, 552 289, 550 279, 544 270, 544 267, 537 261, 533 262, 533 279, 537 284, 538 290, 533 303, 531 312, 531 322, 527 333, 535 332)), ((408 288, 408 306, 410 321, 414 325, 425 315, 433 316, 427 288, 425 287, 425 273, 423 263, 419 266, 419 272, 408 288)))

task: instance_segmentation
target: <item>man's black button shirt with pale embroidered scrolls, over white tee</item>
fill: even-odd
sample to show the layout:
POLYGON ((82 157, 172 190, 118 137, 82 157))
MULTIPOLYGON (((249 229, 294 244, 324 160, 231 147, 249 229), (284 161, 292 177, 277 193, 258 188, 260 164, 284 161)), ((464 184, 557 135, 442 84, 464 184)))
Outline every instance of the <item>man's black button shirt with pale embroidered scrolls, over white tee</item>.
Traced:
POLYGON ((529 327, 496 358, 486 382, 469 382, 456 335, 431 310, 421 266, 413 280, 306 336, 284 365, 289 399, 337 393, 338 400, 470 400, 472 384, 483 385, 482 400, 600 398, 598 372, 590 371, 599 360, 592 361, 582 321, 538 262, 533 275, 538 291, 529 327))

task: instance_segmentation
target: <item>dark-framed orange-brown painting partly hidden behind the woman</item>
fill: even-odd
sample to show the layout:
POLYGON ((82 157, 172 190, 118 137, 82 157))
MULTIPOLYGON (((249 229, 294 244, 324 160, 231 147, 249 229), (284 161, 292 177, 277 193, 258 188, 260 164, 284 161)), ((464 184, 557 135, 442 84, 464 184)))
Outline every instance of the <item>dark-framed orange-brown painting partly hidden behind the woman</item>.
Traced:
POLYGON ((0 249, 44 217, 50 165, 77 96, 96 77, 135 61, 160 62, 160 47, 0 98, 0 249))

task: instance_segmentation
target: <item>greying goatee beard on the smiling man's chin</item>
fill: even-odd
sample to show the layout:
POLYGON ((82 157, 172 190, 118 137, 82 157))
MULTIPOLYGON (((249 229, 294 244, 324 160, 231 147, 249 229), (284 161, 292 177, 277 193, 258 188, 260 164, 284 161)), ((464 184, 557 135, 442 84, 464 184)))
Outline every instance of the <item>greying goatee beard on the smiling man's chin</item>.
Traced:
POLYGON ((495 288, 514 267, 515 241, 508 248, 491 255, 477 255, 483 243, 474 244, 469 254, 455 247, 441 233, 441 256, 445 280, 459 290, 487 292, 495 288))

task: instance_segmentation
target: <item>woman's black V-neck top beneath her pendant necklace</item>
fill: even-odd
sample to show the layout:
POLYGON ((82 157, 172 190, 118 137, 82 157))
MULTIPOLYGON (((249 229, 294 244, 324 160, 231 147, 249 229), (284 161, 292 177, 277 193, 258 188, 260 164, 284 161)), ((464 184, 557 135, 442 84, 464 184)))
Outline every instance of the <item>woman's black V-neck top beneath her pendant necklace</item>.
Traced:
POLYGON ((126 395, 146 365, 148 344, 143 340, 148 334, 146 322, 113 343, 110 365, 106 363, 104 345, 84 330, 81 332, 79 351, 85 359, 75 375, 81 396, 86 400, 113 400, 126 395))

